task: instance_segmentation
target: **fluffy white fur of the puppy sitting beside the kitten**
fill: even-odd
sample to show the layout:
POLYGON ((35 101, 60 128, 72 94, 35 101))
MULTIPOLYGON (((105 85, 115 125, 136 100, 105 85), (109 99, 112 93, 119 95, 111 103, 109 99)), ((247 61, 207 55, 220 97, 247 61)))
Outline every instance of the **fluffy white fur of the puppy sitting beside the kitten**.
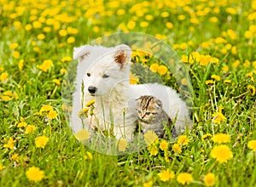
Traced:
POLYGON ((137 127, 136 99, 141 95, 154 95, 162 101, 164 110, 175 121, 177 133, 181 133, 185 126, 191 126, 189 110, 172 88, 158 83, 129 84, 131 48, 128 46, 122 44, 105 48, 85 45, 74 48, 73 59, 79 61, 71 117, 74 133, 83 128, 78 116, 82 102, 85 105, 91 99, 96 99, 96 117, 93 120, 85 119, 84 128, 91 132, 92 127, 109 130, 113 126, 117 139, 132 139, 137 127), (95 94, 90 94, 89 87, 96 88, 95 94))

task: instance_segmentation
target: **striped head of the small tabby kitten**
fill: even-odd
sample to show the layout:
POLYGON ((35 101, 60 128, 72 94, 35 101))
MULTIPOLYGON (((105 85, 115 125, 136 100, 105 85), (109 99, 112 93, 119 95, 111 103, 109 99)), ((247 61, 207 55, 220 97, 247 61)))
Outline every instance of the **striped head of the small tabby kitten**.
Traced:
POLYGON ((162 111, 162 102, 152 95, 143 95, 137 99, 136 111, 143 122, 151 122, 162 111))

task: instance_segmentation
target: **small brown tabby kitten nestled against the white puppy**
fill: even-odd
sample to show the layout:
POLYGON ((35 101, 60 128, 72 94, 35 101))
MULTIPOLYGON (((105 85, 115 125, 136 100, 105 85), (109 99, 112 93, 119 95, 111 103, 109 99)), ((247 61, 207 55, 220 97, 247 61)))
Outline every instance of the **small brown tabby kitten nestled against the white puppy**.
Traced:
MULTIPOLYGON (((151 95, 143 95, 137 99, 137 115, 141 130, 146 133, 148 130, 153 131, 159 138, 166 138, 165 126, 172 127, 172 120, 162 108, 163 104, 160 99, 151 95)), ((177 137, 175 128, 172 128, 172 137, 177 137)))

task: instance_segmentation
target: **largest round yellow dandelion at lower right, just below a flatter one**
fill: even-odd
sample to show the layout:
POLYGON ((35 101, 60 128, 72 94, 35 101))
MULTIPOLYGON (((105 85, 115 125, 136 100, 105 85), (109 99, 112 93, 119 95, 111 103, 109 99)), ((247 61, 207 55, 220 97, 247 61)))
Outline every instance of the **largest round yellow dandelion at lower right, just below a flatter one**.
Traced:
POLYGON ((230 160, 233 157, 233 154, 227 145, 221 144, 213 147, 211 150, 211 156, 219 163, 224 163, 230 160))

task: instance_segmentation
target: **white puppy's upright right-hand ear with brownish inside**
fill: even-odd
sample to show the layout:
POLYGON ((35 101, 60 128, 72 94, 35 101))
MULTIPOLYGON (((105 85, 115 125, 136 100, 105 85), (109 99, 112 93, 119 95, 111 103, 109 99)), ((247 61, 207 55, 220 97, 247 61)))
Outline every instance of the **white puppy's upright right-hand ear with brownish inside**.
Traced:
POLYGON ((116 51, 113 54, 114 61, 120 65, 120 69, 131 61, 131 48, 125 44, 116 47, 116 51))

